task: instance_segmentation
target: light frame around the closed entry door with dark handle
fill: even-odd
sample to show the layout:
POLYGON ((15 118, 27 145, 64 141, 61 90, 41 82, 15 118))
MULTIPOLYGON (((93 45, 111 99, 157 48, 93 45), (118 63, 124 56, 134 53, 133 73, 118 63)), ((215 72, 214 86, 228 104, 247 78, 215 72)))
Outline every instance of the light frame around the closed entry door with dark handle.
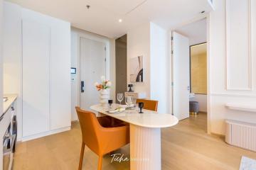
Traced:
POLYGON ((80 106, 80 38, 87 38, 89 40, 95 40, 98 42, 103 42, 106 45, 106 72, 105 72, 105 77, 106 79, 110 79, 110 40, 107 38, 101 38, 100 36, 97 35, 92 35, 90 33, 78 33, 78 106, 80 106))

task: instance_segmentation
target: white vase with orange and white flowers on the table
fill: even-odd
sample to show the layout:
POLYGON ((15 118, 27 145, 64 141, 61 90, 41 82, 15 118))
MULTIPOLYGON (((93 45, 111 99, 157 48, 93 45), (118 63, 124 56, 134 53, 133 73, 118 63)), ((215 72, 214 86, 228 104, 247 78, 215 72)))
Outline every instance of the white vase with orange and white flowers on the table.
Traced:
POLYGON ((95 83, 97 91, 100 91, 100 104, 102 106, 107 106, 108 100, 110 99, 110 87, 111 81, 107 80, 105 76, 101 77, 101 84, 98 82, 95 83))

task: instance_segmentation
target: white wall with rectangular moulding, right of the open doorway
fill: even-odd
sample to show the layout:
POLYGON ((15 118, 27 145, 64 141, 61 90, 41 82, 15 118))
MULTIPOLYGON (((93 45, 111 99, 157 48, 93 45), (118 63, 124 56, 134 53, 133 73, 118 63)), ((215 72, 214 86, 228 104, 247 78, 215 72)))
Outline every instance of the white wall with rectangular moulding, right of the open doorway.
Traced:
POLYGON ((225 119, 256 123, 255 113, 225 107, 225 103, 256 103, 256 2, 227 2, 215 0, 215 11, 209 16, 210 132, 223 135, 225 119), (230 9, 227 13, 226 6, 230 9), (251 32, 248 26, 252 26, 251 32))

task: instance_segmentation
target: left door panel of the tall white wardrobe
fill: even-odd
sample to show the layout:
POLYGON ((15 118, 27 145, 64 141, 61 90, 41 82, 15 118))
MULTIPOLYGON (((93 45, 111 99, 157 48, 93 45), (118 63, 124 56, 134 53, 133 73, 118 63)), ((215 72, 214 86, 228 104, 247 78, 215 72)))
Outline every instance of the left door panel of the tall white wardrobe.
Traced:
POLYGON ((23 137, 49 130, 50 27, 23 20, 23 137))

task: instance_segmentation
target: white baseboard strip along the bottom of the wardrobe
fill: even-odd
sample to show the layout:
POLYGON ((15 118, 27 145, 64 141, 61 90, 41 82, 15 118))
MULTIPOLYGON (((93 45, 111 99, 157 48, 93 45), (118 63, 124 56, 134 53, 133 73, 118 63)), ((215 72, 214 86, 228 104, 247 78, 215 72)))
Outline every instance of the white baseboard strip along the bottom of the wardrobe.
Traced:
POLYGON ((50 130, 48 132, 42 132, 42 133, 39 133, 39 134, 36 134, 36 135, 22 137, 18 141, 26 142, 28 140, 35 140, 35 139, 37 139, 39 137, 45 137, 45 136, 53 135, 53 134, 56 134, 56 133, 59 133, 59 132, 65 132, 65 131, 68 131, 70 129, 71 129, 70 126, 68 126, 68 127, 60 128, 60 129, 56 129, 56 130, 50 130))

